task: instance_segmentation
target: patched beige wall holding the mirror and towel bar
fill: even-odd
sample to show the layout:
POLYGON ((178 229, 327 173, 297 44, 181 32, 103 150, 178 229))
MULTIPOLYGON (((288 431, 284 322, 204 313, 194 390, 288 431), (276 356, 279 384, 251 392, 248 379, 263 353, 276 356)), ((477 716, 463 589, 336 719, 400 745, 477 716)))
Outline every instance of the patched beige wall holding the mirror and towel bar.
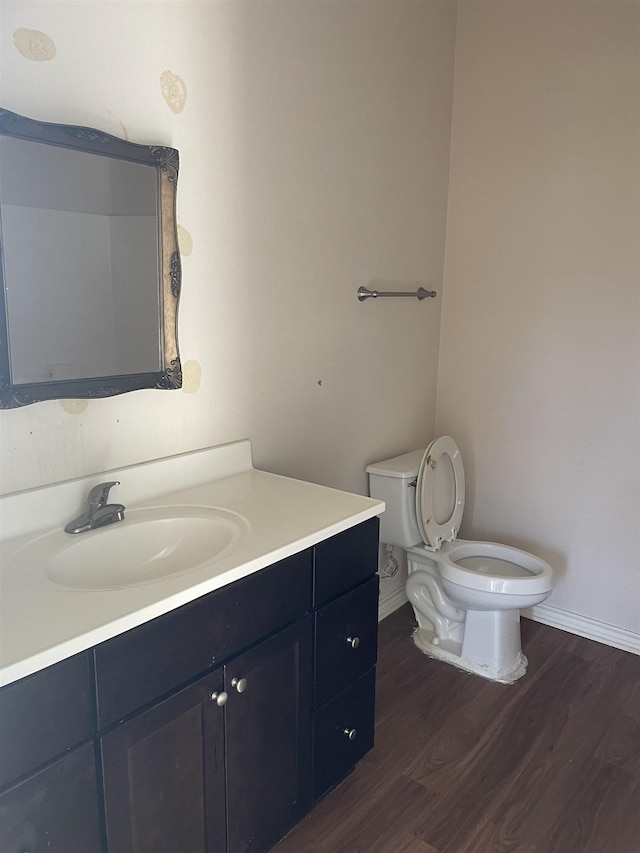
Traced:
POLYGON ((2 105, 177 147, 193 242, 185 391, 0 412, 0 490, 249 437, 259 467, 364 493, 369 461, 435 423, 440 297, 355 294, 441 291, 455 5, 2 0, 0 15, 2 105), (18 30, 45 34, 35 55, 18 30), (180 112, 164 71, 186 84, 180 112))

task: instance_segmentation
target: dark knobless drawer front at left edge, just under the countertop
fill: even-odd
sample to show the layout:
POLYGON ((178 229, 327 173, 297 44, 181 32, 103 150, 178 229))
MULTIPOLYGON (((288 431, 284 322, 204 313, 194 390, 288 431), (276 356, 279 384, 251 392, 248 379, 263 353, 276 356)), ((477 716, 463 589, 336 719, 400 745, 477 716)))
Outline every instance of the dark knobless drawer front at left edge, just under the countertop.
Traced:
POLYGON ((0 787, 93 733, 89 653, 0 690, 0 787))

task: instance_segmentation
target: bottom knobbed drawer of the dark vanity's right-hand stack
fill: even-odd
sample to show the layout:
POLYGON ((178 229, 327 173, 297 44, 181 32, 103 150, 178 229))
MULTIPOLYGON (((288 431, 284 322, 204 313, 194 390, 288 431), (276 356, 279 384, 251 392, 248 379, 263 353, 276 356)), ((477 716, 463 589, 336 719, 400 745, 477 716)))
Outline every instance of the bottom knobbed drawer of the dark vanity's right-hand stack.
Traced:
POLYGON ((314 800, 335 787, 373 746, 375 669, 313 715, 314 800))

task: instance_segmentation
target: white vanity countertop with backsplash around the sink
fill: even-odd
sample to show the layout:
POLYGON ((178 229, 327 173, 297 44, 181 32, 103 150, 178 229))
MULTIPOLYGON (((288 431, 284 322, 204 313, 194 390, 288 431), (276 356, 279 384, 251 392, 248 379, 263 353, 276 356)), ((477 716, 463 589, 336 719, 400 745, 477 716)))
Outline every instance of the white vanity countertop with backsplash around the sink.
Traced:
MULTIPOLYGON (((170 457, 0 498, 0 686, 97 645, 384 511, 384 503, 257 471, 248 441, 170 457), (60 530, 91 486, 119 480, 127 510, 218 507, 247 524, 211 564, 108 590, 57 586, 42 565, 17 567, 34 538, 60 530)), ((123 522, 126 524, 126 517, 123 522)), ((100 536, 108 528, 78 534, 100 536)), ((105 559, 109 555, 105 554, 105 559)), ((91 566, 87 566, 87 572, 91 566)), ((283 593, 286 594, 286 591, 283 593)))

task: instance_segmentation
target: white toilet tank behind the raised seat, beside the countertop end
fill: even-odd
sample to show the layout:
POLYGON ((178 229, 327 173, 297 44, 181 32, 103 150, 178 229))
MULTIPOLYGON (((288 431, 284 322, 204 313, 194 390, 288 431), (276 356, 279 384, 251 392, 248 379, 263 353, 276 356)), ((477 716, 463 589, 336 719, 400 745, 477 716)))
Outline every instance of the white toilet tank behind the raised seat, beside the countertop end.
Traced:
POLYGON ((416 477, 423 456, 424 450, 412 450, 367 468, 369 494, 386 504, 380 517, 380 541, 386 545, 411 548, 422 542, 416 520, 416 477))

